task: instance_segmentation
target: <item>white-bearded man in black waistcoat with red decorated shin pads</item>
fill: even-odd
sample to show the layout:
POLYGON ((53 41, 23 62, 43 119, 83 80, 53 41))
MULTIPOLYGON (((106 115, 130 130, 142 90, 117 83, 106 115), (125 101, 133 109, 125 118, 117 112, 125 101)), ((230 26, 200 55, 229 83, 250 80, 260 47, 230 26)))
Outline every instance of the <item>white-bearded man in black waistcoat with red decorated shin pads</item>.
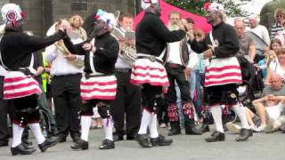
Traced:
MULTIPOLYGON (((170 12, 169 16, 169 30, 178 30, 179 23, 181 21, 181 13, 180 12, 170 12)), ((169 136, 181 134, 181 128, 179 123, 179 114, 178 107, 176 104, 177 96, 175 91, 175 82, 179 86, 179 90, 181 92, 181 99, 183 100, 183 116, 184 116, 184 128, 185 134, 199 135, 201 134, 195 128, 195 121, 193 117, 193 104, 190 97, 190 86, 187 82, 184 69, 187 67, 189 60, 189 50, 187 46, 187 38, 186 36, 183 40, 168 43, 167 44, 167 76, 170 82, 170 86, 167 92, 167 115, 170 121, 170 132, 168 132, 169 136)))

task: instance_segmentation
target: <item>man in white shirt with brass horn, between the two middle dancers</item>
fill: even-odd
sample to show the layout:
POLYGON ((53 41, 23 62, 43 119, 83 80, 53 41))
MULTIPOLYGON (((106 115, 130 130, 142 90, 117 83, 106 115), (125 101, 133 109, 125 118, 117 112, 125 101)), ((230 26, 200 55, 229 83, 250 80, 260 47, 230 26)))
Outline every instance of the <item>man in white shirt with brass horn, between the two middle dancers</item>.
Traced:
MULTIPOLYGON (((124 140, 124 134, 126 133, 126 140, 134 140, 134 134, 138 132, 141 123, 142 94, 139 86, 129 83, 133 66, 124 57, 124 52, 126 51, 122 49, 123 45, 133 45, 134 47, 134 36, 127 37, 134 34, 134 31, 131 30, 134 24, 134 17, 130 13, 121 13, 118 23, 119 27, 116 28, 116 31, 122 37, 117 35, 120 44, 120 52, 115 64, 118 88, 116 100, 112 102, 110 108, 116 128, 113 138, 115 141, 124 140), (124 131, 125 122, 126 131, 124 131)), ((113 35, 116 36, 116 34, 113 35)))

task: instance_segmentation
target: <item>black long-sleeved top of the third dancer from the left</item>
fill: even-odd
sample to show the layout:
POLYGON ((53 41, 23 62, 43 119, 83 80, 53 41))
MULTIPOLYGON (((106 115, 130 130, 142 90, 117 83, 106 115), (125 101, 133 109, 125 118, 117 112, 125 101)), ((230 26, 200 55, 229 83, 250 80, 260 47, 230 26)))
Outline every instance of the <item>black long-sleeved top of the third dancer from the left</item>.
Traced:
POLYGON ((183 30, 169 31, 157 14, 146 12, 135 30, 136 51, 159 56, 167 43, 180 41, 183 37, 183 30))

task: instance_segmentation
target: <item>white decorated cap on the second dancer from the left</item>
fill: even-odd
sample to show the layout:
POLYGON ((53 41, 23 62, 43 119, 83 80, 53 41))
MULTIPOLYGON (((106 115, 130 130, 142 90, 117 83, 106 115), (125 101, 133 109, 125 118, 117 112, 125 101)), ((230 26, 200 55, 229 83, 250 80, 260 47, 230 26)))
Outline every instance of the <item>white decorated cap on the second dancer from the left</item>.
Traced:
POLYGON ((95 19, 105 21, 110 28, 114 28, 117 26, 117 20, 115 15, 110 12, 105 12, 99 9, 96 13, 95 19))

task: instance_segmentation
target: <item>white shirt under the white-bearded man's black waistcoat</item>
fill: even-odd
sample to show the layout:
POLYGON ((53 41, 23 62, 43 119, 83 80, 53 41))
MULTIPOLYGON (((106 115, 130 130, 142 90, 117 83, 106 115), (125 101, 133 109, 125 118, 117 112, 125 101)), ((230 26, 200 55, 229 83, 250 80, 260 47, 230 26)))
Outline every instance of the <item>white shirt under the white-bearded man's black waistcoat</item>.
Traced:
POLYGON ((181 41, 168 43, 168 59, 167 62, 182 65, 181 61, 181 41))

